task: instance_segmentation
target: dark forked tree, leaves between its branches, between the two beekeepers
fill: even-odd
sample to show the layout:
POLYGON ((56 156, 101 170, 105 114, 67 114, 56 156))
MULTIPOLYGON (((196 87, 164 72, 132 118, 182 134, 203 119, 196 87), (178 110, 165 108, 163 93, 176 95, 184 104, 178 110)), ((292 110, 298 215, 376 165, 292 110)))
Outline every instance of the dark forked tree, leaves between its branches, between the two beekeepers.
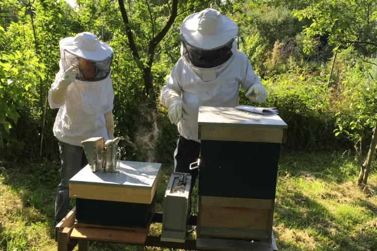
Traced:
POLYGON ((211 1, 165 1, 164 3, 154 2, 148 0, 137 1, 133 5, 128 2, 128 8, 124 5, 123 0, 118 0, 119 9, 122 15, 122 20, 125 25, 125 30, 128 39, 128 46, 132 51, 133 59, 135 60, 139 70, 142 72, 144 80, 144 94, 149 98, 149 108, 156 110, 155 103, 156 94, 153 88, 152 65, 156 58, 156 48, 159 43, 167 35, 169 29, 174 24, 175 19, 186 14, 188 11, 197 12, 205 7, 209 7, 211 1), (179 3, 179 5, 178 5, 179 3), (180 12, 178 13, 178 9, 180 12), (133 17, 136 18, 132 22, 128 12, 133 12, 133 17), (137 14, 136 14, 137 13, 137 14), (163 22, 163 16, 168 16, 167 21, 163 22), (143 30, 138 26, 140 19, 149 23, 144 26, 143 30), (135 40, 142 41, 143 44, 138 44, 135 40))

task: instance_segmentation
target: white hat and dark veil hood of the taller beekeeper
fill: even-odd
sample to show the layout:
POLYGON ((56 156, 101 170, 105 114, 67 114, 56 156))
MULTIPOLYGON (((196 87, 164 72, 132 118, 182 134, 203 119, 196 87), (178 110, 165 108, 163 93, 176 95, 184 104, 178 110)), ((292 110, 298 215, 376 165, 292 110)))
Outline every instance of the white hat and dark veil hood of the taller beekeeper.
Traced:
POLYGON ((180 27, 182 57, 200 68, 222 65, 233 55, 237 34, 237 25, 216 10, 194 13, 180 27))

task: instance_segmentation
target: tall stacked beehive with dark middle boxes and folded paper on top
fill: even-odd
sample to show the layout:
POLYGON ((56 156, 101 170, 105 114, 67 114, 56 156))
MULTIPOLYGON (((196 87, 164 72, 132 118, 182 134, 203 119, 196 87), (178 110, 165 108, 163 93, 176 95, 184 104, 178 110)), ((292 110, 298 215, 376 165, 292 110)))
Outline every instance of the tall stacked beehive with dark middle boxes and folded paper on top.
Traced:
MULTIPOLYGON (((230 250, 224 243, 232 238, 274 250, 277 166, 287 128, 277 114, 200 107, 198 247, 222 243, 219 250, 230 250)), ((241 245, 249 245, 246 242, 241 245)))

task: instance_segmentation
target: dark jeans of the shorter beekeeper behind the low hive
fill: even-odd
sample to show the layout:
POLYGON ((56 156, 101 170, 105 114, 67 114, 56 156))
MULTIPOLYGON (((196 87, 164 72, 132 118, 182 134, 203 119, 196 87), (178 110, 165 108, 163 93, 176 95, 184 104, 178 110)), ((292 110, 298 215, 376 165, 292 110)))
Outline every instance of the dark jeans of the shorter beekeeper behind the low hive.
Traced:
POLYGON ((72 146, 59 142, 61 181, 56 193, 54 227, 68 213, 69 207, 69 180, 87 165, 86 156, 82 147, 72 146))

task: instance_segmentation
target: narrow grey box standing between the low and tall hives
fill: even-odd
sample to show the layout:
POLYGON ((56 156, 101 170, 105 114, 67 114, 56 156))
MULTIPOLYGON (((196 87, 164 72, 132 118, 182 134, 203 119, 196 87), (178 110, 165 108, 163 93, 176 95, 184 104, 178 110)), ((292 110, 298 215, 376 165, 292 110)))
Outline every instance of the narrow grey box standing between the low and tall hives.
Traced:
POLYGON ((172 173, 164 197, 162 241, 185 242, 190 210, 191 175, 172 173))

